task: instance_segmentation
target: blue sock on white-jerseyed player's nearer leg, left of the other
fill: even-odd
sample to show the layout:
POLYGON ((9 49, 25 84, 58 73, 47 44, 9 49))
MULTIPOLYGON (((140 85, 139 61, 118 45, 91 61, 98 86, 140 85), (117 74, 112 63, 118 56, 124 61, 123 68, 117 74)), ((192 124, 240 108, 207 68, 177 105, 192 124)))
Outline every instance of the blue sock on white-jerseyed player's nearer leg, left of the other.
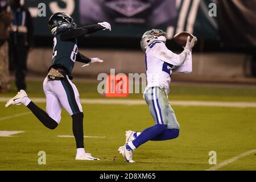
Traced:
MULTIPOLYGON (((133 140, 133 145, 135 148, 138 148, 143 143, 147 142, 148 140, 154 138, 156 135, 159 135, 164 130, 166 130, 167 125, 154 125, 151 127, 148 127, 142 133, 133 140)), ((131 147, 131 145, 129 145, 131 147)))

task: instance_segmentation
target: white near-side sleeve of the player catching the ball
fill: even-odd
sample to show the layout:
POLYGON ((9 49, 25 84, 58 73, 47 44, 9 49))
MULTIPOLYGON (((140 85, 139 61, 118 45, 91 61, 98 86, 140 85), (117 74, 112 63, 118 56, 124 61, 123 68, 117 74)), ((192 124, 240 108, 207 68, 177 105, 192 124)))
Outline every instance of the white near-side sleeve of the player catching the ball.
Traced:
POLYGON ((154 57, 175 66, 183 64, 189 53, 191 53, 191 51, 185 49, 183 52, 177 55, 163 44, 155 47, 154 49, 154 57))

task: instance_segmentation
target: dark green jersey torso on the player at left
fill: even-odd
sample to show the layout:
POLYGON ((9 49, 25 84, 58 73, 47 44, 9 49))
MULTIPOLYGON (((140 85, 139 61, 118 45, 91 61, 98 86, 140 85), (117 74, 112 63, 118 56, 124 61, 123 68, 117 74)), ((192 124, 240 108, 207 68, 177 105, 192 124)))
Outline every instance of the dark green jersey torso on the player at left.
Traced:
POLYGON ((61 40, 64 31, 73 29, 72 24, 63 23, 56 29, 53 38, 52 67, 64 68, 68 75, 71 75, 78 52, 77 39, 61 40))

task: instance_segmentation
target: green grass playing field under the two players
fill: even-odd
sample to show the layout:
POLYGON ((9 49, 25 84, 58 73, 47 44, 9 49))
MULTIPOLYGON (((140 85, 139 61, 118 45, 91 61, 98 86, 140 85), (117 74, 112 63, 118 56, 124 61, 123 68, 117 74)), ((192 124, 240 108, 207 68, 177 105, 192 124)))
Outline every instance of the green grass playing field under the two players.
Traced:
MULTIPOLYGON (((80 97, 102 98, 96 93, 96 86, 77 83, 80 97)), ((42 82, 28 82, 28 94, 43 97, 42 82)), ((129 98, 142 96, 134 94, 129 98)), ((256 102, 256 89, 172 86, 170 100, 256 102)), ((255 107, 173 106, 181 127, 180 137, 148 142, 134 152, 137 163, 125 163, 117 149, 125 141, 126 130, 141 131, 153 124, 147 105, 82 104, 85 135, 105 138, 85 138, 86 151, 100 161, 76 161, 75 139, 57 137, 72 135, 72 120, 66 111, 63 110, 60 125, 49 130, 34 115, 27 114, 26 107, 5 109, 4 104, 0 102, 0 130, 25 132, 0 137, 0 170, 206 170, 214 166, 208 163, 209 151, 217 152, 220 164, 256 149, 255 107), (8 118, 20 113, 25 115, 8 118), (38 164, 38 151, 46 152, 46 165, 38 164)), ((256 170, 256 152, 219 170, 256 170)))

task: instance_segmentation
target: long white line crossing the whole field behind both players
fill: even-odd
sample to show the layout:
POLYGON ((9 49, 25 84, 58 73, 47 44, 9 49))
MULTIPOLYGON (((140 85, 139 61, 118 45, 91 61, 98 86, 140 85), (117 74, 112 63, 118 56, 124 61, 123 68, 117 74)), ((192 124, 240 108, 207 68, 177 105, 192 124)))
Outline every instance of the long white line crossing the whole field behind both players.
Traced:
MULTIPOLYGON (((0 102, 6 102, 9 98, 0 97, 0 102)), ((45 98, 31 98, 36 103, 45 103, 45 98)), ((144 100, 125 99, 80 99, 81 104, 117 104, 117 105, 146 105, 144 100)), ((177 106, 213 106, 213 107, 256 107, 256 102, 225 102, 225 101, 170 101, 177 106)))

